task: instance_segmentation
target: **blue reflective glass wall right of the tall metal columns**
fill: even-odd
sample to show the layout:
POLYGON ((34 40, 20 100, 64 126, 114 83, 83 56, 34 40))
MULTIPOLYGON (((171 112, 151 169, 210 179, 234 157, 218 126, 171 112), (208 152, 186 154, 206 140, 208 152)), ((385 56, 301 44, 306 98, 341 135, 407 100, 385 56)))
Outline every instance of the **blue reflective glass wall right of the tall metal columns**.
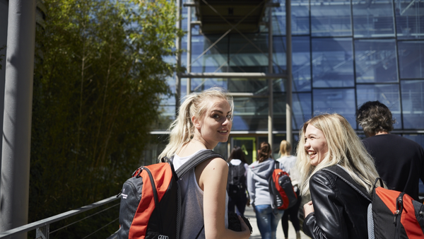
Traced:
MULTIPOLYGON (((273 11, 273 35, 283 39, 284 4, 273 11)), ((310 115, 338 112, 360 132, 355 110, 379 100, 396 118, 396 132, 424 145, 421 10, 423 2, 413 0, 293 0, 293 109, 300 112, 295 97, 301 93, 304 102, 310 99, 304 103, 310 115), (300 53, 300 42, 309 42, 302 47, 309 52, 300 53), (309 77, 299 77, 298 69, 309 77)))

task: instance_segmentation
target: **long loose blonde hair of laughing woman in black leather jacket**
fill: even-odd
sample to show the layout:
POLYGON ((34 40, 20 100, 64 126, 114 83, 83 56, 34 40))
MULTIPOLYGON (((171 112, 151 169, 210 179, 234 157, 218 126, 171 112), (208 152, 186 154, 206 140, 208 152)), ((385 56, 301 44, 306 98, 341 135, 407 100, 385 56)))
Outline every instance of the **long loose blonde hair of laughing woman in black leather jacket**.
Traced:
POLYGON ((305 122, 299 132, 297 152, 297 167, 301 177, 302 194, 309 194, 309 180, 312 175, 331 165, 339 164, 343 166, 353 180, 365 187, 367 192, 370 193, 375 179, 379 177, 374 160, 367 153, 351 124, 338 114, 317 115, 305 122), (305 151, 305 132, 309 124, 322 131, 329 148, 326 156, 317 166, 311 165, 310 158, 305 151))

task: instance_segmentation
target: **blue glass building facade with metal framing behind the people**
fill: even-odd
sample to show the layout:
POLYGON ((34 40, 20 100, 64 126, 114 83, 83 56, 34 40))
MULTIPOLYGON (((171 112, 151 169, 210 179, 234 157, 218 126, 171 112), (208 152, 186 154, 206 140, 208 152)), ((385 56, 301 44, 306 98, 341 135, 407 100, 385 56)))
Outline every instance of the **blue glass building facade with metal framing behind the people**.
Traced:
MULTIPOLYGON (((278 1, 274 1, 278 2, 278 1)), ((273 73, 286 74, 285 1, 272 8, 272 34, 264 16, 256 33, 233 30, 201 33, 192 27, 192 72, 269 72, 269 37, 272 38, 273 73), (216 40, 222 38, 216 43, 216 40), (215 44, 216 43, 216 44, 215 44), (210 48, 210 49, 209 49, 210 48), (204 51, 208 49, 206 53, 204 51)), ((424 146, 424 2, 416 0, 293 0, 291 1, 293 71, 293 142, 303 122, 313 115, 337 112, 363 136, 355 111, 368 100, 379 100, 396 119, 394 134, 424 146), (421 11, 423 10, 423 11, 421 11)), ((196 8, 192 20, 196 21, 196 8)), ((266 13, 269 8, 265 8, 266 13)), ((187 7, 182 8, 187 31, 187 7)), ((267 13, 268 14, 268 13, 267 13)), ((187 35, 182 48, 187 49, 187 35)), ((187 67, 187 52, 182 66, 187 67)), ((181 80, 181 96, 187 78, 181 80)), ((222 86, 235 97, 235 114, 228 148, 249 142, 249 152, 267 140, 269 100, 265 78, 192 78, 191 91, 222 86)), ((170 79, 175 92, 175 78, 170 79)), ((273 79, 273 148, 285 139, 285 78, 273 79)), ((163 99, 163 121, 153 135, 163 135, 175 119, 175 98, 163 99)), ((161 139, 164 137, 161 136, 161 139)), ((247 145, 247 143, 246 143, 247 145)), ((239 145, 240 146, 240 145, 239 145)), ((221 149, 219 149, 219 147, 221 149)), ((254 152, 252 152, 252 155, 254 152)), ((253 157, 253 156, 252 156, 253 157)))

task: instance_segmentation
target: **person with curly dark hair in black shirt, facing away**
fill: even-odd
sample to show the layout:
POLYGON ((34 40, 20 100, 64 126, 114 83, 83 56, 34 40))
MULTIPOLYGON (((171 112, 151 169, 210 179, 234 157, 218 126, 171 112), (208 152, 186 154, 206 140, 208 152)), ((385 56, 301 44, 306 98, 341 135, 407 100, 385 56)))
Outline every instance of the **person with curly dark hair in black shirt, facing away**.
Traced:
POLYGON ((424 182, 424 149, 416 142, 390 134, 396 122, 389 108, 379 101, 364 103, 356 121, 367 136, 363 144, 374 158, 377 171, 389 190, 418 198, 419 179, 424 182))

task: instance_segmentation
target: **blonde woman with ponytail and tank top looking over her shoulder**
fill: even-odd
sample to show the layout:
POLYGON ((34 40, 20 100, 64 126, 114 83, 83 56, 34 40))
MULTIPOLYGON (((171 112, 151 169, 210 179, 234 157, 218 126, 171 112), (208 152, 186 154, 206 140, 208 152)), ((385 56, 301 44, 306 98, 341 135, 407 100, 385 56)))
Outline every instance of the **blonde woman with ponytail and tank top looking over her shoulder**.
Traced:
MULTIPOLYGON (((210 88, 187 95, 170 126, 170 142, 158 159, 174 156, 175 170, 193 156, 228 141, 232 127, 232 98, 223 88, 210 88)), ((239 217, 242 231, 228 229, 226 186, 228 165, 211 158, 186 173, 179 181, 182 194, 180 238, 249 238, 250 231, 239 217)))

